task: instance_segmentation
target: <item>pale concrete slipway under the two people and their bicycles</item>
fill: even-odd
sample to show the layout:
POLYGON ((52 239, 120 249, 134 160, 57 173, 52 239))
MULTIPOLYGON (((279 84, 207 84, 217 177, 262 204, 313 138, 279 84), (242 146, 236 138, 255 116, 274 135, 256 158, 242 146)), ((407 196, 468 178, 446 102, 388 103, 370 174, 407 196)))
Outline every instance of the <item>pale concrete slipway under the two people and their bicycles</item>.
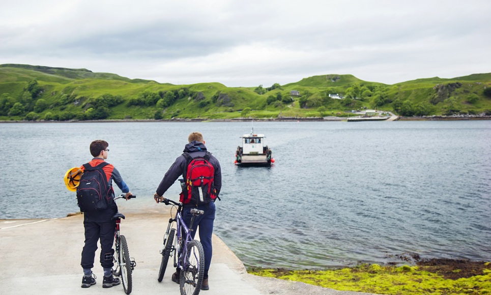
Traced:
MULTIPOLYGON (((179 294, 179 285, 170 280, 171 264, 162 282, 157 281, 161 258, 159 249, 170 208, 155 204, 131 212, 122 210, 129 205, 119 206, 126 215, 122 221, 122 234, 127 238, 130 256, 137 262, 131 294, 179 294)), ((80 287, 80 252, 84 240, 82 221, 81 215, 59 219, 0 220, 0 294, 124 294, 122 285, 102 288, 99 250, 93 269, 97 284, 90 288, 80 287)), ((237 256, 216 236, 213 237, 213 247, 210 290, 200 294, 367 294, 250 275, 237 256)))

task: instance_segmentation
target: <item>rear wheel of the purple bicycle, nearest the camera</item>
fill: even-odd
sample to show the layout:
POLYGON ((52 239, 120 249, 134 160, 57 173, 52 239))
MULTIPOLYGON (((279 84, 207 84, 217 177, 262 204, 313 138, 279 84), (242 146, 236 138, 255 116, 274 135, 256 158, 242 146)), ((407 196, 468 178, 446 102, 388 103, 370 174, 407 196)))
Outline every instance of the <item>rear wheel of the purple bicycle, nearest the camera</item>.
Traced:
POLYGON ((183 267, 181 271, 181 295, 198 295, 203 283, 205 273, 205 251, 197 240, 189 242, 187 251, 183 253, 183 267))

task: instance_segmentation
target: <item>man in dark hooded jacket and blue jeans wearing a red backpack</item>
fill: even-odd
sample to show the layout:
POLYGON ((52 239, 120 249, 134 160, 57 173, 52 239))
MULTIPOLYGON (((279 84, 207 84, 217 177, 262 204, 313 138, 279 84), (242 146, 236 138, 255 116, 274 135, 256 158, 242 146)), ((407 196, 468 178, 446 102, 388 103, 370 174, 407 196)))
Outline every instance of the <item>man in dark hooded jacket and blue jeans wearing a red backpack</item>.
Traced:
MULTIPOLYGON (((193 238, 199 226, 199 240, 205 252, 205 275, 202 290, 208 290, 208 270, 210 269, 213 254, 212 235, 215 220, 215 200, 218 198, 222 186, 220 163, 207 151, 203 135, 193 132, 188 136, 188 144, 184 153, 170 166, 160 182, 154 195, 157 203, 162 201, 162 195, 176 180, 182 176, 185 184, 180 196, 183 203, 183 219, 186 224, 191 222, 191 209, 205 211, 205 214, 196 216, 193 223, 193 238)), ((219 199, 219 198, 218 198, 219 199)), ((172 281, 179 284, 179 269, 172 275, 172 281)))

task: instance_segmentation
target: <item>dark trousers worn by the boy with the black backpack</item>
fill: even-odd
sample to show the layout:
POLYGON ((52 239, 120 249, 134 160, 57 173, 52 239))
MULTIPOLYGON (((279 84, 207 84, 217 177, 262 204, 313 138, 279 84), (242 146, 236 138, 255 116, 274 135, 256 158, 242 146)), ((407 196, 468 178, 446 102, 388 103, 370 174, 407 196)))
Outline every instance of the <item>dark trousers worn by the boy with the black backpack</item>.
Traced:
POLYGON ((94 256, 99 239, 101 240, 101 265, 103 268, 112 268, 114 261, 111 254, 114 253, 112 244, 114 243, 116 222, 114 220, 109 222, 84 221, 83 227, 85 228, 85 245, 82 249, 82 261, 80 262, 82 268, 92 269, 94 267, 94 256))

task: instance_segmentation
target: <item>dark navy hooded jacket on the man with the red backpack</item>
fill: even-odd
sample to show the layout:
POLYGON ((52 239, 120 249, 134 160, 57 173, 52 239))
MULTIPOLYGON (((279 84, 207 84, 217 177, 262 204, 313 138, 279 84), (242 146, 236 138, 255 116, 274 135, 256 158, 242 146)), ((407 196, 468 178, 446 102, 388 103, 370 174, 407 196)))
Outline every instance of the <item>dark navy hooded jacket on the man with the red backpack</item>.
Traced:
MULTIPOLYGON (((207 150, 203 142, 191 141, 188 144, 186 144, 183 152, 188 152, 189 155, 194 158, 194 157, 205 157, 207 150)), ((218 197, 218 194, 220 193, 220 189, 222 187, 222 171, 220 168, 220 163, 213 155, 210 157, 209 162, 215 168, 213 183, 218 197)), ((187 161, 183 155, 179 156, 176 159, 176 161, 174 161, 174 163, 170 166, 167 172, 165 172, 164 178, 162 179, 159 187, 157 188, 157 194, 159 196, 163 195, 170 188, 170 186, 176 182, 176 180, 179 177, 182 177, 183 179, 186 178, 186 175, 183 175, 184 170, 186 169, 186 164, 187 161)))

